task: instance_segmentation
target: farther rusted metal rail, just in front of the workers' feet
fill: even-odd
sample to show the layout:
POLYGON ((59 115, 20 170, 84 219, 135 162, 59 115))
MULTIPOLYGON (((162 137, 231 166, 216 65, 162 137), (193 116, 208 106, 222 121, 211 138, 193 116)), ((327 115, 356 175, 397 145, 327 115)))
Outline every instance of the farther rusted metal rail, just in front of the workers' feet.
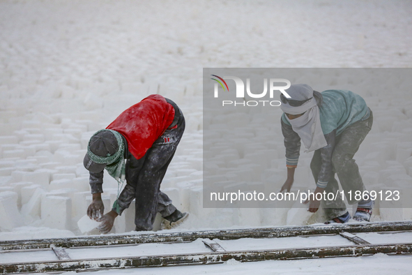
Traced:
POLYGON ((146 244, 159 242, 194 241, 195 239, 275 238, 305 235, 339 234, 339 232, 388 232, 412 230, 412 221, 384 223, 349 223, 339 225, 282 226, 239 230, 205 230, 194 232, 156 232, 136 235, 88 236, 56 239, 0 241, 0 250, 18 250, 76 246, 107 246, 112 244, 146 244))

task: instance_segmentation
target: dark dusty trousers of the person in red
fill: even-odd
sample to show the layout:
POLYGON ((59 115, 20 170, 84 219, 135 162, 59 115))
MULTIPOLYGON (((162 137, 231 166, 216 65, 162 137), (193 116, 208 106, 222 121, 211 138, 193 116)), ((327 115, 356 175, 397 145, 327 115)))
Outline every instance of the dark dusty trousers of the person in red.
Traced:
POLYGON ((144 156, 144 162, 138 167, 133 167, 132 162, 126 165, 128 174, 132 176, 119 196, 118 203, 123 211, 135 198, 136 230, 152 230, 158 212, 166 217, 176 210, 169 197, 160 191, 160 184, 185 131, 185 118, 181 110, 179 112, 177 128, 166 130, 153 143, 144 156))

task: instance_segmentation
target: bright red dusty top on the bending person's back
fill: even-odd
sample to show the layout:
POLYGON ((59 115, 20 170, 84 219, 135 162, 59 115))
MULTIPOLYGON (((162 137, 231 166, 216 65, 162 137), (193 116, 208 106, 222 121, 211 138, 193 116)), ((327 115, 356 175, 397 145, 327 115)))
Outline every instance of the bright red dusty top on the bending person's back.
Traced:
POLYGON ((163 96, 152 94, 128 108, 107 129, 121 133, 130 153, 139 159, 165 133, 174 119, 174 107, 163 96))

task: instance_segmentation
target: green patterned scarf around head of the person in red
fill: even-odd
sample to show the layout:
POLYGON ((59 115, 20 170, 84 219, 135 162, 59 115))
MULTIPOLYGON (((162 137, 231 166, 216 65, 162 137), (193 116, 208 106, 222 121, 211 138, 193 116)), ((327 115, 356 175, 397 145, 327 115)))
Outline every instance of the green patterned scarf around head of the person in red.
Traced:
POLYGON ((109 172, 109 175, 114 177, 114 179, 116 179, 116 181, 119 184, 121 184, 125 180, 125 157, 124 157, 125 144, 123 142, 123 138, 121 137, 121 133, 113 131, 113 130, 109 130, 109 129, 99 130, 96 133, 94 133, 94 135, 97 135, 98 133, 102 131, 109 131, 116 137, 117 144, 119 144, 119 149, 112 156, 110 155, 109 156, 96 156, 90 150, 90 140, 89 140, 89 144, 87 145, 87 154, 89 154, 93 162, 99 163, 99 164, 105 163, 106 164, 105 169, 107 170, 107 172, 109 172))

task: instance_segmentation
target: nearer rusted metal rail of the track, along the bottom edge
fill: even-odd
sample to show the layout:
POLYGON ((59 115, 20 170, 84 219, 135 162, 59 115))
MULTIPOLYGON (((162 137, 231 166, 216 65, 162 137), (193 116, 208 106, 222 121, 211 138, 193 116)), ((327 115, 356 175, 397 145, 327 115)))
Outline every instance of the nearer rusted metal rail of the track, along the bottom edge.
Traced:
POLYGON ((155 255, 145 257, 65 260, 54 262, 26 262, 0 265, 0 274, 26 272, 64 272, 84 271, 89 269, 120 269, 129 267, 167 267, 176 265, 200 265, 238 260, 257 262, 263 260, 292 260, 333 257, 353 257, 376 253, 404 254, 412 253, 412 244, 335 246, 323 248, 293 248, 268 251, 236 251, 216 253, 193 253, 187 255, 155 255))

